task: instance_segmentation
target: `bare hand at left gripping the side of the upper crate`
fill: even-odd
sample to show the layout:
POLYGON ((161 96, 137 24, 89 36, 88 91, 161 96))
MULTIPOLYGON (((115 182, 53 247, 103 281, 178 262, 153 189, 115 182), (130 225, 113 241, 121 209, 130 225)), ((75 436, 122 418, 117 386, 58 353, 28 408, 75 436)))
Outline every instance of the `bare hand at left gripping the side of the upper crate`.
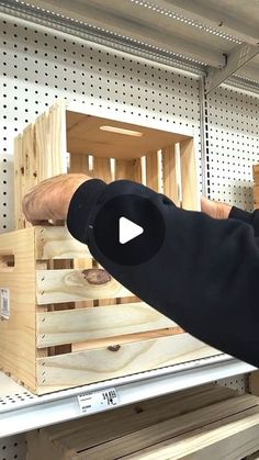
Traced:
POLYGON ((46 179, 23 198, 23 213, 33 225, 65 221, 70 200, 81 183, 90 179, 83 173, 69 173, 46 179))

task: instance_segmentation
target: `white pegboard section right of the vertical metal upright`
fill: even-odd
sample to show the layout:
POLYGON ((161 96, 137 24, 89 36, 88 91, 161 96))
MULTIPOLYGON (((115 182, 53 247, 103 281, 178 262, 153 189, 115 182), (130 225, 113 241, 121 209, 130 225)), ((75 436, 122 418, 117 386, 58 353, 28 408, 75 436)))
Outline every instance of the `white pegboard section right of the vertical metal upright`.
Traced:
POLYGON ((259 97, 228 87, 207 98, 207 184, 214 200, 251 211, 252 165, 259 162, 259 97))

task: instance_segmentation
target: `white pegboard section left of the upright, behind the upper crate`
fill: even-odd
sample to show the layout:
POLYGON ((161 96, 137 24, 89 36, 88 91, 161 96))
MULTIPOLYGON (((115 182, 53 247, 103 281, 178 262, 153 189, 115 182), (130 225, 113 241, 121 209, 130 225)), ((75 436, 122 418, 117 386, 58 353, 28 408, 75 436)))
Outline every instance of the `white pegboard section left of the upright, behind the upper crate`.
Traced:
POLYGON ((195 136, 200 157, 196 76, 159 68, 7 18, 0 25, 1 165, 4 166, 0 193, 5 193, 0 203, 0 232, 13 228, 13 137, 58 98, 94 106, 100 116, 122 114, 133 123, 157 121, 168 130, 188 128, 195 136))

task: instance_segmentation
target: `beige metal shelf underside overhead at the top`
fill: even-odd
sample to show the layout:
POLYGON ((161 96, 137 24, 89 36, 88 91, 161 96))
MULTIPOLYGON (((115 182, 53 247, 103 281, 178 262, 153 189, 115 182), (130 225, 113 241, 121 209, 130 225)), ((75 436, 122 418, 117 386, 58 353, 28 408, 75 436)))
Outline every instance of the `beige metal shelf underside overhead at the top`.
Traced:
POLYGON ((0 0, 0 12, 207 76, 206 90, 249 81, 258 91, 258 4, 241 0, 0 0), (222 12, 224 11, 224 12, 222 12), (234 13, 233 13, 234 12, 234 13), (248 25, 249 24, 249 25, 248 25), (162 33, 161 33, 162 31, 162 33))

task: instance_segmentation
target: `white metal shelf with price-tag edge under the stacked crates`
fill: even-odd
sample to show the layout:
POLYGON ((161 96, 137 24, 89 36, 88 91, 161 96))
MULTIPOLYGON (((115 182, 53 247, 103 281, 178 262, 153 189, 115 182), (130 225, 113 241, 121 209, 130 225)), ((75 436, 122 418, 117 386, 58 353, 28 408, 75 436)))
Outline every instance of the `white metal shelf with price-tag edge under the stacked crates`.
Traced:
POLYGON ((78 403, 83 393, 115 388, 119 407, 252 370, 252 366, 218 355, 43 396, 33 395, 0 373, 0 438, 86 416, 78 403))

